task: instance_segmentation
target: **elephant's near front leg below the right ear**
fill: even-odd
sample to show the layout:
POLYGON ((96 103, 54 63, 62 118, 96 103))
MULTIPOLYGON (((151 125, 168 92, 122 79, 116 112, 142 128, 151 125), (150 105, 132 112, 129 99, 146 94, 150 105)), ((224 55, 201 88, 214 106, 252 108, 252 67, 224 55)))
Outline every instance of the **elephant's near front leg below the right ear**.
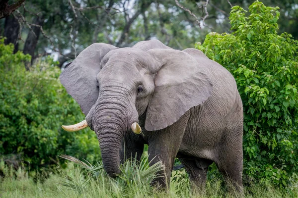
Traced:
POLYGON ((188 118, 189 113, 186 113, 165 129, 147 132, 149 134, 149 165, 158 161, 162 161, 164 165, 164 170, 158 173, 161 177, 155 178, 152 182, 153 185, 169 189, 175 157, 182 142, 188 118))

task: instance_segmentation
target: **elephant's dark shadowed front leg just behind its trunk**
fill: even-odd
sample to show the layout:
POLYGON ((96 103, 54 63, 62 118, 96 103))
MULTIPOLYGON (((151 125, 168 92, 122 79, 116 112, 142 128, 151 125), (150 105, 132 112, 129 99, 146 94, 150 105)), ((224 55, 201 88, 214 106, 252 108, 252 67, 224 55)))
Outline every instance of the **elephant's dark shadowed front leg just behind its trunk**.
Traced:
POLYGON ((135 141, 132 137, 125 136, 120 149, 120 163, 124 163, 127 159, 141 160, 144 150, 144 143, 135 141))

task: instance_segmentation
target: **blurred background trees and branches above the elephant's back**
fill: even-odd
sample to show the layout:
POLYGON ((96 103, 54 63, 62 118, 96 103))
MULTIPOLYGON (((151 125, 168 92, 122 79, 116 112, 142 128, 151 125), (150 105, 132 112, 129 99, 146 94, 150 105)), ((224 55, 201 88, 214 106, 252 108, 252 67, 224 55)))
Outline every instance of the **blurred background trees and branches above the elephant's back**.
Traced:
MULTIPOLYGON (((24 2, 17 10, 0 19, 5 44, 30 54, 32 62, 55 54, 63 67, 92 43, 131 47, 158 39, 173 49, 192 48, 210 31, 230 33, 231 6, 247 9, 254 0, 9 0, 9 4, 19 1, 24 2)), ((279 32, 298 39, 298 0, 262 2, 280 7, 279 32)))

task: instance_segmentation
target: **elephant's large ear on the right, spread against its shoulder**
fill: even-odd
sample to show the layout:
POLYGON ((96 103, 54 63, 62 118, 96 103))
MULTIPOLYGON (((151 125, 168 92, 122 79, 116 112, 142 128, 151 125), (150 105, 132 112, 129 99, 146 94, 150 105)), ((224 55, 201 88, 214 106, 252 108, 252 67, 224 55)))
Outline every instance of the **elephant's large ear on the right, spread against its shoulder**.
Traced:
POLYGON ((147 108, 145 129, 156 131, 176 122, 190 108, 211 96, 213 85, 200 64, 188 53, 174 49, 150 49, 156 61, 154 93, 147 108))

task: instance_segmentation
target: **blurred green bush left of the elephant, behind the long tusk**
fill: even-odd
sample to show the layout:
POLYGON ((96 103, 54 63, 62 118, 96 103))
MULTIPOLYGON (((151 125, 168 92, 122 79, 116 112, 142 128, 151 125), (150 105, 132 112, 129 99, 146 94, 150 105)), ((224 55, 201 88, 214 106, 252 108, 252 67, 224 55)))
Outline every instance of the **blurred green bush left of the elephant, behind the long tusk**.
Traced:
POLYGON ((0 158, 20 154, 30 167, 49 167, 58 154, 100 160, 96 135, 89 129, 70 133, 62 124, 84 119, 78 104, 59 81, 50 57, 30 68, 30 56, 0 39, 0 158))

